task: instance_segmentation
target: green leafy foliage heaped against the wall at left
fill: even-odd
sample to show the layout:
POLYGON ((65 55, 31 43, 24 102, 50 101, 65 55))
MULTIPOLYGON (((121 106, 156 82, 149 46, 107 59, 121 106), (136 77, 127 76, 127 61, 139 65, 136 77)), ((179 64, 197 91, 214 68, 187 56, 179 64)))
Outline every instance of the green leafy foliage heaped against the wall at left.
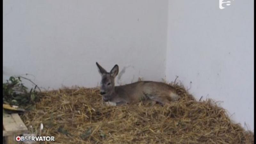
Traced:
POLYGON ((19 107, 28 107, 39 100, 38 92, 35 88, 24 86, 20 77, 11 76, 6 83, 3 83, 3 103, 18 105, 19 107))

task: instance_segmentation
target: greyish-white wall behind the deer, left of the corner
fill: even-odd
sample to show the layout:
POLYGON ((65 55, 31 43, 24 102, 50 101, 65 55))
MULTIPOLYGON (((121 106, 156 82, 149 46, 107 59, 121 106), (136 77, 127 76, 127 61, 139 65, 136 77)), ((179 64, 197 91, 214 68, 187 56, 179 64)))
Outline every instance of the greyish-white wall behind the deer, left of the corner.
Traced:
POLYGON ((119 84, 165 75, 168 1, 4 0, 4 80, 57 89, 100 81, 95 62, 123 68, 119 84))

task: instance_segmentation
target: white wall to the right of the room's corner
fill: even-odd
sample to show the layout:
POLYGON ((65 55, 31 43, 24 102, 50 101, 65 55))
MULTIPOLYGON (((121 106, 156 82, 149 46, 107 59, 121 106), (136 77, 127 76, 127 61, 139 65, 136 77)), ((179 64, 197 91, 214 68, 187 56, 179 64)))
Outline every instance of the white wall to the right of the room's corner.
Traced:
POLYGON ((169 0, 166 78, 179 76, 197 99, 223 101, 232 119, 253 130, 253 0, 225 7, 169 0))

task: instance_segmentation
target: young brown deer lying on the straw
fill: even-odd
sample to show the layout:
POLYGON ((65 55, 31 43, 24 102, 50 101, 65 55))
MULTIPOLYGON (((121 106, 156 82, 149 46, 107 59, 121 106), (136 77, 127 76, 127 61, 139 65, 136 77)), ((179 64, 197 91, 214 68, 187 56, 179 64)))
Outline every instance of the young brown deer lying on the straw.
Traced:
POLYGON ((96 62, 101 75, 100 95, 105 102, 114 105, 136 103, 141 100, 149 99, 154 103, 162 105, 180 98, 176 90, 165 83, 153 81, 139 81, 131 84, 115 86, 115 77, 118 74, 118 65, 115 65, 110 72, 102 68, 96 62))

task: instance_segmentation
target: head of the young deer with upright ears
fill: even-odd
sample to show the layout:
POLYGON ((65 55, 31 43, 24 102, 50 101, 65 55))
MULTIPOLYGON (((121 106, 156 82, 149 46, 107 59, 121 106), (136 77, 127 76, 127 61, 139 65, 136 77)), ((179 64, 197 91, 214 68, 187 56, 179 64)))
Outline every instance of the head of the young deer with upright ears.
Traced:
POLYGON ((118 74, 118 65, 115 65, 110 72, 102 68, 98 62, 96 62, 96 65, 101 75, 100 94, 104 101, 111 100, 115 92, 115 77, 118 74))

